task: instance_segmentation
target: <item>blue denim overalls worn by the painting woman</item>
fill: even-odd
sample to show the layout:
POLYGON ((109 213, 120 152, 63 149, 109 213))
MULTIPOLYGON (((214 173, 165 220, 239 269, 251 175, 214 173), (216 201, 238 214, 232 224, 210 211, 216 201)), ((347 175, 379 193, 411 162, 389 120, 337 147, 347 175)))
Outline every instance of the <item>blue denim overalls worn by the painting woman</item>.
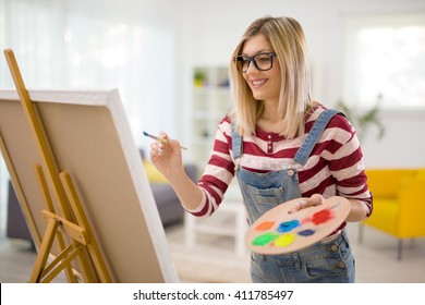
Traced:
MULTIPOLYGON (((336 110, 326 110, 313 125, 294 161, 304 166, 315 144, 336 110)), ((235 175, 241 187, 250 223, 263 213, 301 197, 299 175, 294 169, 256 173, 239 166, 243 155, 242 136, 234 132, 232 124, 233 158, 235 175)), ((329 239, 329 237, 327 237, 329 239)), ((354 282, 354 258, 343 230, 331 241, 320 241, 307 248, 283 255, 251 255, 251 278, 253 282, 354 282)))

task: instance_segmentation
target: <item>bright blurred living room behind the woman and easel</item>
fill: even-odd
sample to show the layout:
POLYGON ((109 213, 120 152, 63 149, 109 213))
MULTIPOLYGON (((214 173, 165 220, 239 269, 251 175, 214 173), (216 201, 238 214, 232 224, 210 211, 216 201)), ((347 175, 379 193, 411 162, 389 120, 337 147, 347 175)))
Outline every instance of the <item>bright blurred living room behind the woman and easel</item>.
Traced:
MULTIPOLYGON (((148 178, 163 184, 143 131, 178 138, 202 174, 232 107, 233 48, 264 15, 301 23, 313 98, 359 132, 382 207, 369 223, 349 224, 356 281, 425 282, 424 0, 0 0, 0 47, 13 49, 28 89, 118 88, 148 178)), ((0 88, 14 88, 3 56, 0 88)), ((211 219, 161 215, 182 281, 250 281, 235 188, 211 219)), ((0 282, 25 282, 36 252, 31 237, 8 234, 10 196, 0 158, 0 282)))

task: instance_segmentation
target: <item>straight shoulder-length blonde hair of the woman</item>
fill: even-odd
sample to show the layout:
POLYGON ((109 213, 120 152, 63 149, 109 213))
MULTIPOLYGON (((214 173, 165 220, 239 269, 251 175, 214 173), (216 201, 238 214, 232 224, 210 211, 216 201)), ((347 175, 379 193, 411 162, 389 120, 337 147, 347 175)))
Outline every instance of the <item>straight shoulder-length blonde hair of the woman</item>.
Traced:
POLYGON ((264 111, 264 101, 257 101, 233 58, 240 56, 244 44, 252 37, 263 34, 277 54, 281 69, 281 90, 278 111, 284 129, 281 135, 293 138, 304 133, 304 117, 312 107, 309 95, 309 72, 307 49, 301 25, 291 17, 266 16, 254 21, 241 38, 232 54, 230 78, 235 108, 230 118, 235 131, 242 136, 255 133, 258 118, 264 111))

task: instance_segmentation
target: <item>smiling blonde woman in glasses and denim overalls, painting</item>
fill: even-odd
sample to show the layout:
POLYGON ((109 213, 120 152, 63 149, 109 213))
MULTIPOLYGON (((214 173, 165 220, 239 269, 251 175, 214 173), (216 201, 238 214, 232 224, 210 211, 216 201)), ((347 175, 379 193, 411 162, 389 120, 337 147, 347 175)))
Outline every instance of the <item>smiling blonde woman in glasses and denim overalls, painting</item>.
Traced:
MULTIPOLYGON (((306 52, 295 20, 267 16, 251 24, 230 63, 235 108, 218 125, 214 151, 197 184, 183 170, 177 141, 151 144, 151 161, 186 211, 210 216, 236 176, 250 223, 300 197, 291 212, 338 195, 351 204, 345 221, 371 215, 372 195, 355 131, 344 115, 312 100, 306 52)), ((354 282, 345 224, 295 253, 253 253, 252 280, 354 282)))

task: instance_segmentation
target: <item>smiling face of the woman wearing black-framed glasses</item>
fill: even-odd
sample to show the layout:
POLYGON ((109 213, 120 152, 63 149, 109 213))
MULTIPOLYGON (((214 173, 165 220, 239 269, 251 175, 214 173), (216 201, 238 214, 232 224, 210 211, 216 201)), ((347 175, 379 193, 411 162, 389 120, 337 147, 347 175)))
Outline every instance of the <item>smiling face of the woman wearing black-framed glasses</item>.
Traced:
MULTIPOLYGON (((245 41, 242 48, 242 56, 252 57, 262 52, 274 51, 265 36, 258 34, 245 41)), ((243 73, 243 77, 256 100, 279 101, 281 75, 278 58, 272 58, 272 66, 268 71, 259 71, 254 62, 251 62, 247 71, 243 73)))

